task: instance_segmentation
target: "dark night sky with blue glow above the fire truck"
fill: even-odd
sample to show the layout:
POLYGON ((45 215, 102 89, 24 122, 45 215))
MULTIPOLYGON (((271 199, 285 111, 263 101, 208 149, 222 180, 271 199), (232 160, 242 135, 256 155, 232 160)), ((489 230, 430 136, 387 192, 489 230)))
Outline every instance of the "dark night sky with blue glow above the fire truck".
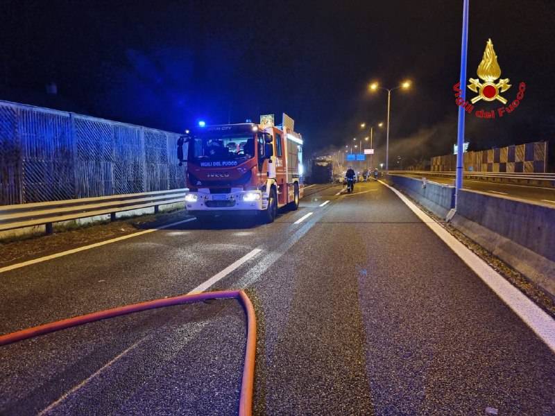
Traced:
MULTIPOLYGON (((198 119, 242 122, 287 112, 308 153, 364 137, 386 118, 391 157, 410 164, 452 150, 462 1, 1 2, 0 98, 182 131, 198 119), (57 96, 46 96, 55 82, 57 96)), ((555 1, 470 0, 467 78, 488 37, 504 93, 502 119, 467 116, 471 149, 554 139, 555 1)), ((468 90, 467 90, 468 91, 468 90)), ((468 92, 468 97, 475 94, 468 92)), ((497 108, 500 103, 479 103, 497 108)), ((377 145, 384 133, 377 133, 377 145)))

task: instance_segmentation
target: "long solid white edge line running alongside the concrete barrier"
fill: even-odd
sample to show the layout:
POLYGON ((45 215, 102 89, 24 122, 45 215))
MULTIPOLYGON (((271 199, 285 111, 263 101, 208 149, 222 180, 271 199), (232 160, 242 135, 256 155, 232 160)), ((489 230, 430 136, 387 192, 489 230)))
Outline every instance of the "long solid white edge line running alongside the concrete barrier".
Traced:
POLYGON ((430 227, 432 231, 436 233, 437 236, 442 239, 443 242, 447 244, 447 246, 453 250, 454 253, 459 256, 541 340, 543 340, 552 352, 555 353, 555 320, 540 309, 538 305, 529 300, 518 288, 515 288, 509 281, 488 266, 488 263, 480 259, 477 254, 468 249, 466 245, 463 245, 463 243, 455 239, 452 234, 447 232, 445 228, 432 220, 432 218, 414 205, 406 196, 397 189, 390 187, 385 182, 381 180, 379 182, 391 189, 391 191, 393 191, 395 195, 418 216, 418 218, 424 221, 427 226, 430 227))

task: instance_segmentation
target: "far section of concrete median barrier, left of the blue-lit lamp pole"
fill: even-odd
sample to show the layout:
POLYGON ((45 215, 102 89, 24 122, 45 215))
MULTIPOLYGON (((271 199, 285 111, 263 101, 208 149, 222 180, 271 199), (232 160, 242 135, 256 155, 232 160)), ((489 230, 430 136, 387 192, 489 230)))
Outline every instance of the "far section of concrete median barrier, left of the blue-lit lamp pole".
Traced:
POLYGON ((455 189, 451 185, 422 181, 416 177, 388 175, 387 179, 396 188, 407 193, 413 200, 426 207, 437 216, 445 218, 454 207, 455 189))

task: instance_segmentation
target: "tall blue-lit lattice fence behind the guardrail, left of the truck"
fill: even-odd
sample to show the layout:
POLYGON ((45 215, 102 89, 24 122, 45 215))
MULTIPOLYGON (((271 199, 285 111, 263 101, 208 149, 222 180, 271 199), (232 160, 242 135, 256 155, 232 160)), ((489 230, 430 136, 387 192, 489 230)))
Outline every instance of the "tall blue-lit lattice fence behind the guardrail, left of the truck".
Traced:
POLYGON ((183 188, 179 136, 0 101, 0 205, 183 188))

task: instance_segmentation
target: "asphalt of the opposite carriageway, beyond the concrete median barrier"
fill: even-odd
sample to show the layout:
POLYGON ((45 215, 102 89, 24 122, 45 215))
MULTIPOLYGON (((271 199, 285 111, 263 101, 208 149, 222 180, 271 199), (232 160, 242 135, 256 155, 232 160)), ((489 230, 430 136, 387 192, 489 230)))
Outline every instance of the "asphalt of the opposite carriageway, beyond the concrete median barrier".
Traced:
MULTIPOLYGON (((426 175, 412 175, 410 173, 403 174, 404 176, 416 177, 422 179, 426 175)), ((454 179, 450 177, 439 177, 434 175, 427 175, 428 180, 440 184, 454 185, 454 179)), ((481 191, 493 193, 497 196, 510 196, 513 198, 520 198, 523 200, 531 200, 539 202, 540 204, 550 205, 555 208, 555 188, 541 187, 538 185, 524 185, 524 184, 504 184, 499 182, 490 182, 487 180, 467 179, 463 180, 463 188, 470 189, 471 191, 481 191)))

